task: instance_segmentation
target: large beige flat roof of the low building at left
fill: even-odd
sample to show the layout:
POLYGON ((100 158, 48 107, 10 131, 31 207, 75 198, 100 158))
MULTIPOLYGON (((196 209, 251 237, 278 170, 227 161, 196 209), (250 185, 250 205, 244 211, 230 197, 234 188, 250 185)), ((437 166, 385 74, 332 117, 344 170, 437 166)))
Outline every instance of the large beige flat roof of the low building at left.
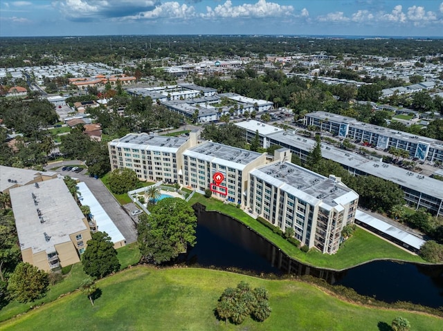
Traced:
POLYGON ((10 197, 21 250, 55 252, 54 245, 70 242, 70 234, 87 229, 84 215, 62 178, 39 182, 38 188, 25 185, 11 189, 10 197))

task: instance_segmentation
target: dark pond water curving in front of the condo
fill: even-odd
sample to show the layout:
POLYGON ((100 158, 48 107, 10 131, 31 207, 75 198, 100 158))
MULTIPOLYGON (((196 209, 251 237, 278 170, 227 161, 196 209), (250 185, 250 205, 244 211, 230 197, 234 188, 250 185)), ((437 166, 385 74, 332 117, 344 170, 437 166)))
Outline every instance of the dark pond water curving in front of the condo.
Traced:
POLYGON ((352 287, 357 293, 392 303, 410 301, 443 306, 443 266, 375 261, 343 272, 303 265, 280 252, 242 223, 195 206, 197 245, 189 249, 186 263, 220 269, 242 269, 255 274, 311 275, 330 284, 352 287))

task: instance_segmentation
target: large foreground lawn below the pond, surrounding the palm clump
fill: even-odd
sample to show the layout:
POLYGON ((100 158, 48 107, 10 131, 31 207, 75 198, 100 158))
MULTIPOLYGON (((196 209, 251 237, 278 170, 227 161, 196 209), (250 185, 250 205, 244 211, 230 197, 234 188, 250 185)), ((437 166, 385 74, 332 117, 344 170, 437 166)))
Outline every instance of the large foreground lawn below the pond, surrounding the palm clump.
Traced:
POLYGON ((403 316, 411 330, 441 330, 443 319, 412 312, 378 310, 340 301, 298 281, 269 281, 215 270, 138 266, 97 283, 95 305, 82 292, 64 296, 24 316, 0 324, 1 330, 389 330, 403 316), (272 313, 262 323, 224 324, 213 308, 226 287, 239 281, 265 287, 272 313))

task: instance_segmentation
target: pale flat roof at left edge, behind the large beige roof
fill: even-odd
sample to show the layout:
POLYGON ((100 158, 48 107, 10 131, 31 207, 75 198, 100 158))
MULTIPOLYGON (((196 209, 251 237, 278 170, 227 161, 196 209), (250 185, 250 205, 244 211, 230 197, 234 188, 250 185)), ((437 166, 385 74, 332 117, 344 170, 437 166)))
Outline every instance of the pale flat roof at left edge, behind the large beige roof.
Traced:
POLYGON ((57 173, 53 171, 37 171, 0 165, 0 192, 10 187, 26 185, 39 176, 55 177, 57 173))

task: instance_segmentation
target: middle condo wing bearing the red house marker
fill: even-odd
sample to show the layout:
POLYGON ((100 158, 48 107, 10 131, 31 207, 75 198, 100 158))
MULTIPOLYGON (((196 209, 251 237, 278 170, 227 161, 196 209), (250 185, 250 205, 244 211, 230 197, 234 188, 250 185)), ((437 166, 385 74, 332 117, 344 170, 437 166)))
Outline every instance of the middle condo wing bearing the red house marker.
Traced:
POLYGON ((213 196, 245 205, 248 173, 266 163, 266 155, 215 142, 204 142, 183 151, 183 185, 213 196), (221 173, 224 179, 213 185, 213 176, 221 173))

